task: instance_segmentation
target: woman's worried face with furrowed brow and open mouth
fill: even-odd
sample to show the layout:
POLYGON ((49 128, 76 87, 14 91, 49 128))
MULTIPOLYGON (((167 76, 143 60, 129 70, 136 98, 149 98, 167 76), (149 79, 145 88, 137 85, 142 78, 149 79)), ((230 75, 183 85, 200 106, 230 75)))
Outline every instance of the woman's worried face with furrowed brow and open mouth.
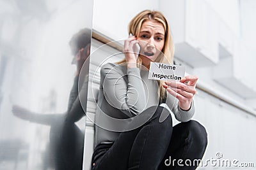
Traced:
POLYGON ((164 32, 163 24, 156 20, 147 20, 141 25, 138 40, 143 66, 149 68, 150 62, 154 62, 163 50, 164 32))

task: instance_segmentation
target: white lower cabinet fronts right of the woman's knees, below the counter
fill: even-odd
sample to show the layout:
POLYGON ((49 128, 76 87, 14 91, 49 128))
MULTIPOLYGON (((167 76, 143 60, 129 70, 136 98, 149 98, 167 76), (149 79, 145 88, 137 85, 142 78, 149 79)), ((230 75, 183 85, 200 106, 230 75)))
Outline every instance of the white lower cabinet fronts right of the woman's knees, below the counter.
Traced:
MULTIPOLYGON (((223 101, 200 90, 195 96, 195 106, 196 114, 193 119, 201 122, 208 133, 209 143, 204 161, 211 159, 211 157, 216 159, 216 153, 221 152, 223 159, 237 159, 239 163, 254 162, 255 167, 256 146, 254 141, 256 137, 254 131, 256 117, 223 103, 223 101)), ((205 169, 230 168, 207 166, 205 169)), ((246 169, 246 167, 241 169, 246 169)))

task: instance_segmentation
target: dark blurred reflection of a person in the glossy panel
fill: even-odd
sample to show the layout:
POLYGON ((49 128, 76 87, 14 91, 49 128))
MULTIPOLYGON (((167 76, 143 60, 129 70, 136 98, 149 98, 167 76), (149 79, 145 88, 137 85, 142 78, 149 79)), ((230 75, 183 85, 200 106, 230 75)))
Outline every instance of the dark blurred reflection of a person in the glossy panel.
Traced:
MULTIPOLYGON (((37 124, 49 125, 49 144, 43 156, 44 169, 53 167, 56 170, 82 169, 83 168, 83 147, 84 132, 75 124, 84 115, 84 110, 79 101, 79 94, 86 95, 84 86, 87 87, 86 75, 80 75, 85 60, 90 55, 91 30, 81 29, 70 39, 72 64, 76 64, 76 76, 68 99, 68 108, 65 113, 45 114, 35 113, 22 108, 13 106, 13 115, 16 117, 35 122, 37 124), (79 80, 82 79, 82 80, 79 80), (78 89, 78 81, 84 82, 83 88, 78 89), (80 90, 80 91, 79 91, 80 90)), ((84 71, 83 71, 84 73, 84 71)), ((86 74, 86 73, 85 73, 86 74)))

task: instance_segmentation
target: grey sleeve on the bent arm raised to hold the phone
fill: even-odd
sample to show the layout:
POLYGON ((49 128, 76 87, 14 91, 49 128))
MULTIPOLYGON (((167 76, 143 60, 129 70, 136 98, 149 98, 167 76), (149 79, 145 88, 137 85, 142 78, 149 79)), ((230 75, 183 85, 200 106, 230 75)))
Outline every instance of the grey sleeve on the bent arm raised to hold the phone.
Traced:
MULTIPOLYGON (((100 70, 104 97, 114 108, 133 117, 145 109, 146 94, 140 69, 132 67, 124 73, 115 64, 105 64, 100 70)), ((125 69, 126 70, 126 69, 125 69)))

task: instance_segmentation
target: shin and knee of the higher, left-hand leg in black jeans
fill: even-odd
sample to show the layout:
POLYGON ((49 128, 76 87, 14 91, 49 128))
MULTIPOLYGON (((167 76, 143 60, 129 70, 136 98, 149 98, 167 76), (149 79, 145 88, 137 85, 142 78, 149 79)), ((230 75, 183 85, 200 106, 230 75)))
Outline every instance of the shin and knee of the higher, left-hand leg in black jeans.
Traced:
POLYGON ((143 125, 134 140, 129 156, 128 169, 156 170, 166 153, 171 136, 171 115, 166 108, 158 107, 156 113, 150 121, 143 125), (162 113, 169 116, 164 122, 159 122, 162 113))

